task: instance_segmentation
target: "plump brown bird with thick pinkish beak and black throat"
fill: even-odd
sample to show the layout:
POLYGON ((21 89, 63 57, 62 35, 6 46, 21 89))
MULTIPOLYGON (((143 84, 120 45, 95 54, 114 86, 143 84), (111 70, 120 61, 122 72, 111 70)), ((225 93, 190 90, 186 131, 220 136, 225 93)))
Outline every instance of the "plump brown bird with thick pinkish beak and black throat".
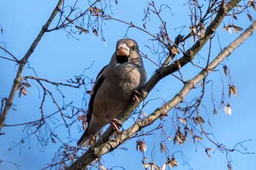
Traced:
POLYGON ((91 139, 108 123, 119 131, 116 116, 131 100, 138 100, 138 90, 146 83, 146 69, 133 39, 120 39, 107 66, 97 75, 90 94, 86 114, 87 128, 78 140, 79 147, 88 147, 91 139))

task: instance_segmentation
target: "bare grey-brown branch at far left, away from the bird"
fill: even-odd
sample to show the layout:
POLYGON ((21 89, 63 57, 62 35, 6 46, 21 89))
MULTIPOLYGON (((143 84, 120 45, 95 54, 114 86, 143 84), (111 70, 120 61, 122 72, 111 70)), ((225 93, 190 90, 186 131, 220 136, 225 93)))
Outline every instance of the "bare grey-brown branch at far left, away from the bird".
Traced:
POLYGON ((24 55, 24 57, 19 61, 19 68, 18 68, 18 72, 16 74, 15 80, 13 82, 12 85, 12 89, 10 91, 10 95, 9 97, 6 99, 5 102, 5 106, 4 106, 4 111, 2 113, 0 113, 0 131, 1 128, 4 125, 4 120, 7 117, 7 113, 9 112, 10 107, 12 106, 12 101, 13 98, 15 97, 15 92, 18 89, 18 85, 20 84, 20 77, 22 75, 24 66, 26 64, 26 62, 28 61, 29 57, 31 56, 31 54, 34 52, 34 49, 37 47, 40 39, 42 38, 42 36, 45 34, 45 31, 48 30, 48 27, 50 26, 50 23, 52 23, 53 18, 55 18, 56 14, 59 12, 60 8, 61 8, 61 4, 63 3, 64 0, 59 0, 57 6, 55 9, 53 9, 52 14, 50 15, 50 18, 47 20, 47 22, 45 23, 45 26, 42 27, 41 31, 39 32, 39 34, 37 35, 37 38, 34 40, 34 42, 32 43, 31 47, 29 48, 29 50, 27 51, 27 53, 24 55))

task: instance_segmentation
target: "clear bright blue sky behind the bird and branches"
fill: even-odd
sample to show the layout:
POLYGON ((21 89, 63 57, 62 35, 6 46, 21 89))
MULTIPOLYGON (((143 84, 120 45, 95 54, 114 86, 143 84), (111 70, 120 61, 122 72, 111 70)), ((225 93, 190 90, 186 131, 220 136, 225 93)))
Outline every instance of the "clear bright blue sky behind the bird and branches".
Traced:
MULTIPOLYGON (((50 16, 53 8, 56 6, 57 1, 15 1, 15 0, 0 0, 0 24, 4 29, 3 34, 0 34, 0 45, 6 47, 17 58, 22 58, 26 51, 29 49, 31 42, 39 33, 45 21, 50 16), (3 43, 4 42, 4 43, 3 43)), ((86 1, 79 1, 81 8, 86 6, 86 1)), ((159 2, 155 2, 159 7, 159 2)), ((176 1, 172 4, 169 1, 165 1, 170 6, 162 13, 162 17, 167 22, 167 28, 170 30, 170 37, 174 39, 181 31, 181 26, 189 26, 189 8, 187 7, 187 1, 176 1), (172 15, 173 14, 173 15, 172 15), (177 28, 177 29, 176 29, 177 28)), ((143 9, 146 7, 146 1, 118 1, 118 6, 111 1, 113 17, 125 20, 127 22, 132 21, 138 26, 143 27, 143 9)), ((255 12, 252 13, 252 17, 255 16, 255 12)), ((86 18, 85 18, 86 20, 86 18)), ((147 21, 147 30, 152 33, 157 33, 159 23, 154 22, 154 17, 151 21, 147 21)), ((85 21, 87 22, 87 21, 85 21)), ((225 20, 227 24, 228 20, 225 20)), ((53 22, 56 23, 56 20, 53 22)), ((249 19, 246 15, 238 15, 236 21, 237 26, 246 28, 249 26, 249 19)), ((53 28, 50 26, 50 28, 53 28)), ((228 31, 222 31, 222 25, 217 30, 216 36, 219 36, 220 45, 222 49, 232 42, 238 34, 234 32, 229 34, 228 31)), ((67 36, 67 32, 52 31, 46 33, 39 42, 34 53, 29 59, 30 68, 33 68, 38 77, 42 77, 55 82, 61 82, 73 78, 74 75, 82 74, 83 70, 91 66, 91 69, 85 71, 86 77, 94 78, 97 76, 99 70, 108 64, 111 55, 113 54, 116 46, 116 41, 124 37, 127 26, 122 23, 118 23, 113 20, 105 20, 102 25, 103 33, 106 39, 106 45, 102 42, 100 35, 98 37, 92 34, 74 34, 75 38, 67 36), (78 40, 79 39, 79 40, 78 40)), ((188 28, 184 29, 181 34, 188 34, 188 28)), ((143 53, 148 54, 154 61, 157 62, 158 54, 152 54, 145 45, 148 45, 148 39, 151 37, 142 33, 136 29, 129 29, 127 34, 130 38, 136 39, 140 50, 143 53)), ((256 133, 255 133, 255 87, 256 87, 256 67, 255 67, 255 40, 256 35, 249 37, 241 47, 238 47, 230 57, 225 60, 230 69, 230 75, 232 81, 238 89, 238 96, 231 96, 228 98, 228 102, 232 108, 232 115, 227 115, 222 108, 218 109, 218 114, 212 114, 211 104, 211 89, 213 90, 214 98, 220 103, 220 97, 222 93, 222 83, 225 85, 225 94, 228 93, 228 81, 229 79, 224 76, 222 66, 217 69, 220 72, 213 72, 208 80, 213 80, 214 84, 208 85, 206 90, 206 96, 203 100, 203 106, 206 109, 201 109, 201 114, 205 120, 210 120, 211 127, 205 124, 206 131, 214 134, 219 143, 225 144, 227 148, 233 148, 238 142, 244 142, 245 140, 252 139, 249 142, 243 143, 243 146, 248 150, 244 151, 243 147, 237 146, 237 149, 242 152, 255 152, 256 151, 256 133), (207 110, 207 112, 206 112, 207 110)), ((192 40, 189 42, 192 45, 192 40)), ((219 42, 214 40, 212 47, 211 58, 216 57, 219 53, 219 42)), ((0 51, 1 56, 7 56, 6 53, 0 51)), ((202 58, 208 56, 208 46, 200 52, 200 56, 195 58, 196 63, 204 63, 202 58)), ((145 67, 148 72, 148 78, 154 73, 157 67, 147 61, 144 58, 145 67)), ((204 65, 203 65, 204 66, 204 65)), ((34 75, 33 69, 24 70, 23 76, 34 75)), ((12 61, 7 61, 0 58, 0 97, 8 96, 12 87, 12 82, 15 77, 17 66, 12 61)), ((181 69, 182 75, 185 80, 191 79, 200 69, 195 69, 195 66, 185 66, 181 69), (192 70, 192 72, 190 72, 192 70)), ((178 74, 177 74, 178 75, 178 74)), ((88 80, 87 80, 88 81, 88 80)), ((32 81, 31 81, 32 82, 32 81)), ((88 82, 89 83, 89 82, 88 82)), ((39 119, 40 111, 39 106, 42 100, 42 90, 38 90, 39 87, 36 82, 31 83, 32 87, 28 89, 28 96, 21 96, 18 98, 16 94, 13 104, 15 104, 15 110, 10 110, 7 115, 6 124, 12 125, 17 123, 25 123, 30 120, 39 119), (34 83, 34 84, 33 84, 34 83), (39 93, 41 93, 39 95, 39 93)), ((53 90, 53 94, 56 95, 58 101, 63 104, 61 94, 52 85, 46 85, 53 90)), ((144 109, 144 112, 150 114, 157 107, 160 107, 164 101, 170 100, 182 87, 182 83, 176 80, 175 77, 166 77, 159 85, 151 91, 148 96, 149 99, 155 99, 149 102, 144 109), (166 90, 168 88, 168 90, 166 90)), ((87 85, 86 88, 90 88, 87 85)), ((61 91, 65 96, 65 104, 73 101, 73 105, 76 107, 82 107, 83 94, 85 88, 69 89, 61 88, 61 91)), ((192 93, 187 96, 186 101, 191 101, 196 95, 200 93, 199 90, 192 90, 192 93)), ((49 115, 56 111, 56 107, 50 100, 49 96, 45 104, 45 115, 49 115)), ((70 113, 70 110, 67 110, 70 113)), ((173 111, 169 112, 170 117, 173 116, 173 111)), ((60 120, 61 121, 61 120, 60 120)), ((53 120, 53 122, 59 122, 53 120)), ((49 123, 53 124, 53 123, 49 123)), ((124 127, 128 127, 130 122, 126 123, 124 127)), ((155 123, 145 131, 155 128, 158 123, 155 123)), ((199 127, 198 127, 199 128, 199 127)), ((59 149, 61 142, 56 140, 56 144, 49 142, 47 146, 42 147, 35 136, 31 136, 29 139, 24 140, 24 144, 14 147, 17 142, 20 142, 24 136, 30 131, 23 131, 24 126, 18 127, 4 127, 1 132, 5 134, 0 136, 0 160, 10 161, 18 164, 18 168, 25 169, 42 169, 47 163, 50 163, 54 153, 59 149), (13 147, 13 148, 12 148, 13 147), (8 150, 12 148, 11 150, 8 150)), ((76 125, 72 125, 70 128, 71 136, 68 136, 67 131, 63 131, 64 126, 60 126, 54 130, 54 133, 58 134, 59 138, 64 142, 67 142, 69 137, 71 139, 80 138, 82 135, 78 131, 76 125)), ((167 133, 172 130, 171 125, 165 123, 165 129, 167 133)), ((42 134, 42 136, 45 134, 42 134)), ((152 136, 146 137, 147 150, 145 152, 146 158, 149 161, 154 161, 159 166, 165 163, 165 155, 159 153, 159 132, 155 132, 152 136), (154 148, 154 142, 156 142, 154 148)), ((206 155, 204 147, 213 147, 214 144, 208 142, 205 136, 202 136, 204 140, 200 143, 194 144, 192 139, 189 138, 189 142, 185 142, 184 145, 173 145, 173 142, 168 142, 170 152, 176 152, 176 159, 178 161, 179 170, 216 170, 227 169, 227 158, 232 160, 233 169, 254 169, 256 167, 256 156, 252 154, 242 154, 241 152, 229 152, 230 155, 226 155, 225 152, 215 150, 211 152, 211 159, 206 155), (204 147, 202 147, 202 145, 204 147), (227 156, 227 158, 226 158, 227 156)), ((124 169, 143 169, 142 158, 143 155, 135 150, 137 139, 132 139, 122 147, 128 148, 125 150, 116 150, 103 157, 104 165, 108 168, 113 166, 122 166, 124 169), (131 161, 131 158, 133 161, 131 161)), ((75 145, 75 142, 72 144, 75 145)), ((16 169, 12 163, 2 162, 0 163, 0 169, 16 169)), ((114 168, 121 169, 121 168, 114 168)))

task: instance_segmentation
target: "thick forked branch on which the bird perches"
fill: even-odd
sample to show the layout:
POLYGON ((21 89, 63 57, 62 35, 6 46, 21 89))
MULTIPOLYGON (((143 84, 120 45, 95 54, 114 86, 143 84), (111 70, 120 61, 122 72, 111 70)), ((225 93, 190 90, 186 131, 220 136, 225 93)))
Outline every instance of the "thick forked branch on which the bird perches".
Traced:
MULTIPOLYGON (((189 63, 189 61, 192 61, 192 59, 195 57, 197 52, 206 45, 206 42, 208 39, 211 38, 212 34, 214 34, 214 31, 217 30, 219 27, 219 24, 222 22, 222 20, 225 18, 227 13, 233 9, 233 7, 238 4, 238 1, 230 1, 229 3, 222 4, 222 6, 219 8, 219 11, 217 12, 216 17, 211 22, 211 24, 206 28, 206 35, 203 37, 203 39, 198 40, 195 45, 193 45, 189 50, 187 50, 186 53, 184 53, 184 56, 179 59, 179 63, 181 66, 184 66, 185 64, 189 63)), ((192 80, 189 80, 185 83, 184 87, 179 91, 179 93, 176 94, 174 98, 172 98, 170 101, 162 105, 162 107, 156 109, 151 115, 148 115, 148 117, 145 117, 143 120, 140 120, 138 123, 135 123, 135 125, 132 125, 132 127, 128 128, 126 131, 123 131, 121 134, 118 134, 115 139, 110 140, 113 136, 113 128, 108 128, 108 130, 101 136, 101 138, 97 141, 96 144, 94 144, 94 147, 91 150, 87 150, 80 158, 78 158, 77 161, 72 163, 71 166, 69 166, 68 170, 72 169, 83 169, 86 166, 89 166, 90 163, 92 163, 95 159, 99 158, 100 156, 111 152, 112 150, 115 150, 116 147, 118 147, 120 144, 125 142, 129 137, 132 137, 136 132, 140 131, 142 128, 145 128, 148 125, 151 125, 151 123, 154 123, 155 120, 157 120, 159 117, 167 115, 167 112, 170 111, 173 107, 176 106, 179 102, 183 101, 184 98, 187 96, 190 90, 192 90, 195 85, 197 85, 201 80, 203 80, 205 77, 208 76, 208 74, 211 72, 212 69, 214 69, 216 66, 219 65, 227 56, 230 55, 230 53, 236 49, 239 45, 241 45, 242 42, 246 40, 256 29, 256 23, 253 23, 249 28, 244 31, 243 34, 241 34, 238 39, 236 39, 233 43, 231 43, 228 47, 226 47, 224 50, 222 50, 222 53, 219 53, 217 58, 214 59, 211 63, 208 64, 208 67, 206 69, 202 69, 202 71, 197 74, 192 80)), ((176 72, 178 70, 177 63, 172 63, 169 66, 161 67, 157 69, 155 74, 151 77, 151 79, 147 82, 146 86, 143 89, 143 97, 140 97, 140 101, 143 100, 143 98, 146 98, 148 93, 151 91, 152 88, 154 88, 155 85, 159 82, 159 80, 162 80, 163 77, 176 72)), ((124 109, 123 112, 121 112, 120 115, 118 115, 117 119, 121 121, 127 120, 129 115, 133 112, 133 110, 138 107, 138 103, 136 101, 131 101, 130 104, 128 104, 127 109, 124 109)))

